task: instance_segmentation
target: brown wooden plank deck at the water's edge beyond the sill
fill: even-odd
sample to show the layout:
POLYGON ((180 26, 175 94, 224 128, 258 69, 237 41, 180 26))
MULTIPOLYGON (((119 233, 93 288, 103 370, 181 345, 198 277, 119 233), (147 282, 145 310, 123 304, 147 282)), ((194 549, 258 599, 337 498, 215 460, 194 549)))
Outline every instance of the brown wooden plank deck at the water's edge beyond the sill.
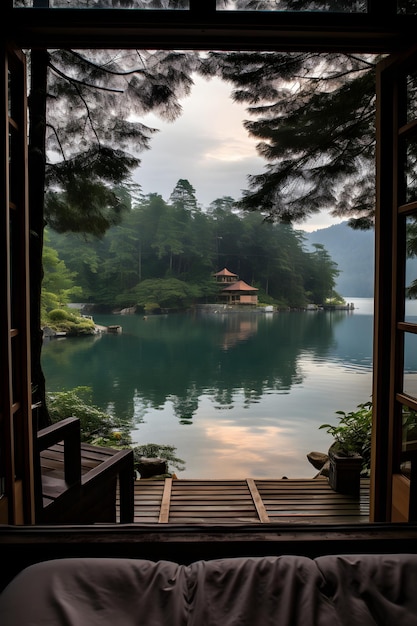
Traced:
POLYGON ((360 498, 327 479, 138 480, 135 523, 358 524, 369 521, 369 480, 360 498))

